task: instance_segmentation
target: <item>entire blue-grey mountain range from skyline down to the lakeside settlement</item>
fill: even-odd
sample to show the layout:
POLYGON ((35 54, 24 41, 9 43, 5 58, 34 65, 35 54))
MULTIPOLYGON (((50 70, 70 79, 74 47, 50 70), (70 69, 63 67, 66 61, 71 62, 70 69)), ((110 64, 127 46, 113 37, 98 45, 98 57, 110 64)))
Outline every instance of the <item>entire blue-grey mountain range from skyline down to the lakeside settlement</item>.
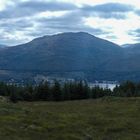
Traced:
POLYGON ((21 80, 42 74, 89 81, 140 80, 136 48, 122 48, 85 32, 43 36, 0 50, 0 69, 5 74, 0 71, 0 77, 21 80))

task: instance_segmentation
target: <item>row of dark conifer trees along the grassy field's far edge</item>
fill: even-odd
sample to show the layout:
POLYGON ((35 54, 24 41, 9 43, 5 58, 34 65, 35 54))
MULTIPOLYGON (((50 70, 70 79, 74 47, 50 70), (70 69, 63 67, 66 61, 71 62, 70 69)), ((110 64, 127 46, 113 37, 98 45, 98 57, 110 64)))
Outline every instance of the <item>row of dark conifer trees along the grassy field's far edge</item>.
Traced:
POLYGON ((65 101, 96 99, 104 96, 136 97, 140 96, 140 83, 131 81, 116 86, 113 91, 98 86, 90 88, 86 82, 69 82, 53 85, 48 82, 39 85, 17 86, 0 83, 0 96, 7 96, 12 102, 17 101, 65 101))

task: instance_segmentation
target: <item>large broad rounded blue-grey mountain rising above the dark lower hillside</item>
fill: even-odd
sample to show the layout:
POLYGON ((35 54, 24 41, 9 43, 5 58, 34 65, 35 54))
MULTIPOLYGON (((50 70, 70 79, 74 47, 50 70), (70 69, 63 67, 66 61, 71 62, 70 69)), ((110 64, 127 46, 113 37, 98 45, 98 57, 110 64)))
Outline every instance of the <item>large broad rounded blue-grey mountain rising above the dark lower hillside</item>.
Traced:
POLYGON ((37 38, 0 52, 0 68, 41 71, 94 71, 119 57, 122 49, 88 33, 37 38))

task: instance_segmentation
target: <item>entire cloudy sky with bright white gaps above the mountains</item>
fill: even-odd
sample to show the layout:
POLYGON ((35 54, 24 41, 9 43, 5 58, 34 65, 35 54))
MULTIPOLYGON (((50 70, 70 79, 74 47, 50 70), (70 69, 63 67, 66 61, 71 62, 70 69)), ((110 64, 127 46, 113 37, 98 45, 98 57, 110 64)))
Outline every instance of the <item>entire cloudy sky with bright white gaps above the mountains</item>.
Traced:
POLYGON ((140 43, 140 0, 0 0, 0 44, 78 31, 140 43))

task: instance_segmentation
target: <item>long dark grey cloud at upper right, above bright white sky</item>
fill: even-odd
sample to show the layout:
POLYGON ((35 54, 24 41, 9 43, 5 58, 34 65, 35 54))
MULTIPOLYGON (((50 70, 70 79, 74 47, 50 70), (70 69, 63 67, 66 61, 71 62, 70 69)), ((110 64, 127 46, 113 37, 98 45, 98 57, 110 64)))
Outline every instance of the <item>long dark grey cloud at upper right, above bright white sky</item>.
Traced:
POLYGON ((133 11, 134 7, 121 3, 105 3, 95 6, 85 5, 81 8, 81 10, 86 14, 105 19, 125 19, 127 17, 127 12, 133 11))

